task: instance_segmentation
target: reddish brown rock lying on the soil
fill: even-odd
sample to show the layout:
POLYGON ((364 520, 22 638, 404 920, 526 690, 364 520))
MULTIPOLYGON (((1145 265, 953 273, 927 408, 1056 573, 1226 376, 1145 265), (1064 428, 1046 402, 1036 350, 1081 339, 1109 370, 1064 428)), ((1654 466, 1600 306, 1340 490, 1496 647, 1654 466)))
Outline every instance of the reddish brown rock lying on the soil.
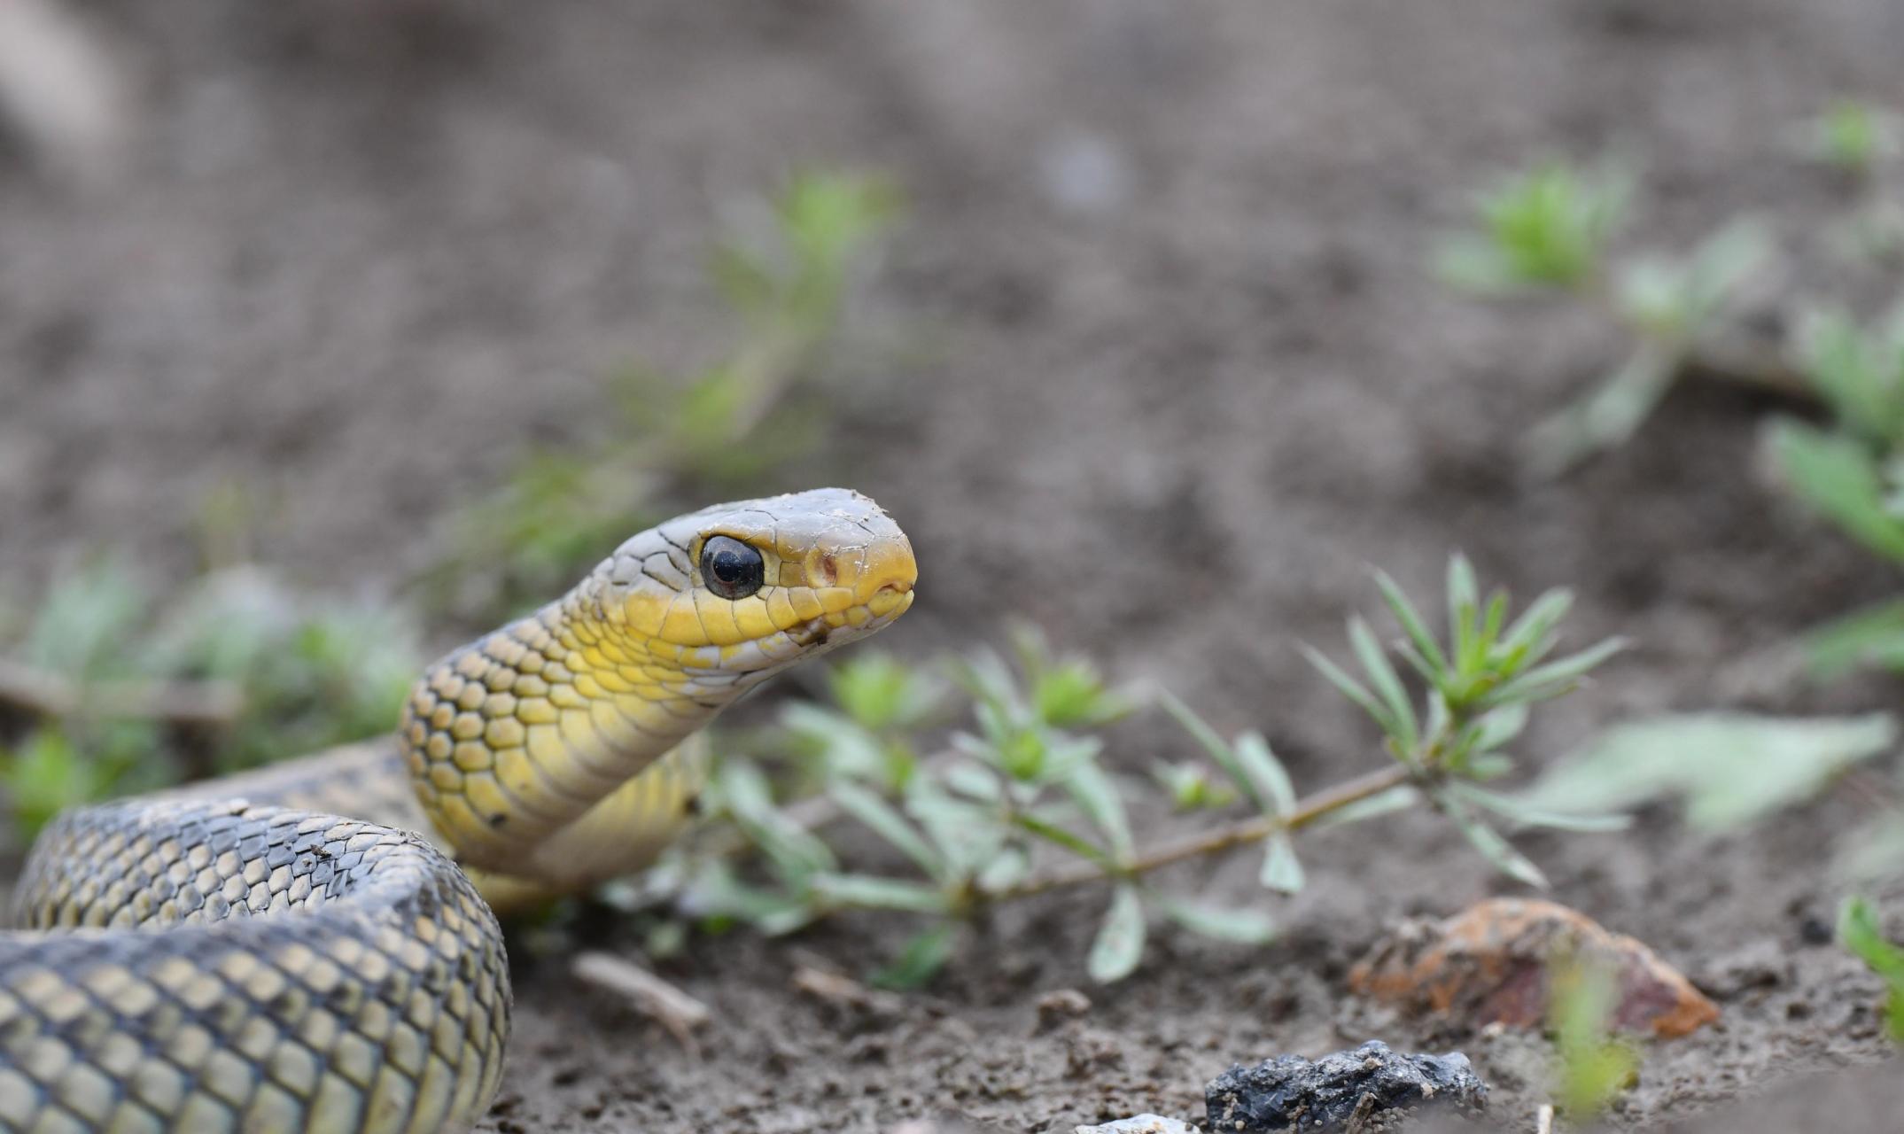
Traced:
POLYGON ((1641 942, 1556 902, 1497 898, 1447 921, 1403 923, 1348 974, 1358 995, 1479 1027, 1537 1027, 1548 1016, 1556 961, 1618 974, 1613 1026, 1674 1039, 1712 1024, 1719 1007, 1641 942))

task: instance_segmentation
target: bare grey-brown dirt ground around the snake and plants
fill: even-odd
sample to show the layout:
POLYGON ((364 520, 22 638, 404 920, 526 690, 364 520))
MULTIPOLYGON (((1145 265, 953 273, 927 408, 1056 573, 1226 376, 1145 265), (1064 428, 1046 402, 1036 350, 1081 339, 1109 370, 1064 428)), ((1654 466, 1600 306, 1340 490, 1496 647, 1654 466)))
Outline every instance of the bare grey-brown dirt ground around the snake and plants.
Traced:
MULTIPOLYGON (((234 479, 270 500, 268 563, 387 590, 526 443, 585 436, 607 369, 712 356, 708 236, 735 200, 826 164, 887 169, 910 200, 861 316, 925 348, 853 386, 845 443, 805 481, 859 487, 912 533, 922 599, 893 651, 1028 616, 1224 731, 1264 727, 1314 788, 1380 757, 1293 643, 1340 641, 1373 601, 1363 563, 1428 590, 1464 548, 1521 596, 1577 586, 1577 641, 1639 641, 1546 715, 1537 763, 1664 708, 1896 694, 1784 666, 1794 632, 1894 578, 1755 474, 1767 405, 1687 390, 1628 449, 1523 483, 1508 440, 1618 337, 1424 272, 1479 181, 1550 152, 1643 156, 1637 228, 1672 247, 1736 209, 1807 225, 1841 205, 1788 127, 1841 93, 1904 105, 1896 0, 74 8, 128 67, 135 118, 116 177, 84 188, 25 145, 0 152, 10 594, 99 546, 183 578, 200 499, 234 479)), ((1182 755, 1156 725, 1121 744, 1133 769, 1182 755)), ((1618 1124, 1775 1088, 1721 1124, 1898 1126, 1894 1067, 1841 1071, 1885 1056, 1875 984, 1822 930, 1818 849, 1854 814, 1828 799, 1723 839, 1649 814, 1628 837, 1525 841, 1559 900, 1725 1008, 1649 1054, 1618 1124)), ((480 1128, 1196 1119, 1230 1062, 1378 1037, 1466 1050, 1504 1126, 1531 1130, 1538 1041, 1434 1033, 1342 991, 1386 921, 1504 887, 1426 818, 1306 845, 1279 944, 1160 929, 1112 989, 1083 974, 1102 894, 1013 909, 927 993, 851 1012, 792 991, 794 965, 864 970, 906 927, 697 942, 664 970, 716 1010, 697 1052, 560 955, 524 957, 480 1128), (1064 987, 1093 1008, 1041 1027, 1036 1001, 1064 987)), ((1251 875, 1175 883, 1251 894, 1251 875)))

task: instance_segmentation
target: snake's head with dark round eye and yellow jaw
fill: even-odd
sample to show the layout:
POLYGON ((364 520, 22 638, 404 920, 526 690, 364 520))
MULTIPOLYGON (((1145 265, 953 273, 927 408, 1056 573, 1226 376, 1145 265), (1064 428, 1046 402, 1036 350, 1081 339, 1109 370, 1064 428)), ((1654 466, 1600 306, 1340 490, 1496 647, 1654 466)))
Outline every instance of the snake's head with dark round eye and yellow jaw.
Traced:
POLYGON ((870 499, 813 489, 670 519, 594 580, 630 647, 689 677, 752 685, 891 624, 912 605, 918 563, 870 499))

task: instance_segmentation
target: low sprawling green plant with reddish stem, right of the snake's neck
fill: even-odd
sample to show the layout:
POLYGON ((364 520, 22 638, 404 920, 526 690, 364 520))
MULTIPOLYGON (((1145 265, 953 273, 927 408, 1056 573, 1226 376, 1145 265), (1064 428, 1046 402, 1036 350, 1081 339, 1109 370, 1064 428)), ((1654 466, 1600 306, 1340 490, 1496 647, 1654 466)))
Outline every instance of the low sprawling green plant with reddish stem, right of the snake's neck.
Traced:
MULTIPOLYGON (((758 866, 727 854, 685 852, 670 871, 678 908, 714 929, 735 921, 762 932, 790 932, 842 909, 882 909, 923 921, 920 932, 878 974, 882 984, 931 978, 960 938, 982 929, 1000 902, 1066 887, 1102 885, 1110 902, 1089 949, 1095 980, 1112 982, 1142 959, 1152 913, 1232 942, 1260 944, 1276 932, 1255 902, 1192 902, 1156 889, 1148 877, 1175 862, 1238 847, 1262 847, 1259 877, 1272 892, 1306 883, 1295 835, 1310 826, 1358 822, 1413 805, 1451 818, 1468 841, 1508 875, 1544 885, 1497 824, 1615 830, 1620 816, 1556 814, 1483 788, 1510 771, 1508 746, 1531 706, 1573 691, 1620 649, 1605 641, 1556 656, 1565 592, 1550 592, 1521 616, 1508 596, 1481 596, 1466 559, 1449 567, 1445 641, 1428 630, 1401 590, 1378 577, 1382 597, 1401 626, 1399 656, 1420 677, 1420 708, 1373 628, 1350 620, 1361 675, 1310 651, 1323 675, 1361 706, 1382 731, 1390 765, 1314 795, 1295 784, 1255 731, 1224 738, 1182 700, 1163 693, 1165 712, 1190 734, 1205 767, 1171 765, 1167 801, 1217 805, 1211 784, 1247 805, 1249 814, 1205 824, 1171 839, 1140 841, 1127 793, 1142 788, 1104 761, 1101 729, 1137 708, 1081 658, 1055 658, 1021 632, 1015 658, 981 653, 952 662, 971 727, 954 731, 946 750, 920 755, 920 729, 941 706, 942 685, 882 655, 840 668, 834 708, 792 704, 783 714, 786 744, 800 767, 775 776, 750 759, 724 759, 708 811, 718 828, 737 831, 758 866), (1186 771, 1194 767, 1196 771, 1186 771), (828 812, 883 845, 899 870, 853 866, 824 835, 834 830, 800 792, 828 801, 828 812), (796 814, 798 812, 798 814, 796 814)), ((716 843, 720 843, 716 839, 716 843)))

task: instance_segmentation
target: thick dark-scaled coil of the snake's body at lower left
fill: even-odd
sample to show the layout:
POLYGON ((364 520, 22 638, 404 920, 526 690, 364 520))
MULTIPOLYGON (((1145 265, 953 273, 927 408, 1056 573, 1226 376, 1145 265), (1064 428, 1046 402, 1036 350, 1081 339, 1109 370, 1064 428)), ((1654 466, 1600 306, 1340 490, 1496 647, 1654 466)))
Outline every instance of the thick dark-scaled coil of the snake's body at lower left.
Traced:
POLYGON ((63 932, 0 936, 0 1130, 434 1132, 495 1094, 503 938, 417 835, 80 811, 36 843, 15 921, 63 932))

